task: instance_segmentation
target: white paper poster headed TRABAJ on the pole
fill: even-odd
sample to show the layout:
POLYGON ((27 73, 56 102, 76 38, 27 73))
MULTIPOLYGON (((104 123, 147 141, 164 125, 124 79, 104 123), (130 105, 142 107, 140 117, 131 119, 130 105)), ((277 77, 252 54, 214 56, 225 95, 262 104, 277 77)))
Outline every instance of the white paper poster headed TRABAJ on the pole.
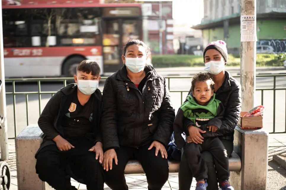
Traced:
POLYGON ((240 41, 256 42, 256 16, 244 15, 240 17, 240 41))

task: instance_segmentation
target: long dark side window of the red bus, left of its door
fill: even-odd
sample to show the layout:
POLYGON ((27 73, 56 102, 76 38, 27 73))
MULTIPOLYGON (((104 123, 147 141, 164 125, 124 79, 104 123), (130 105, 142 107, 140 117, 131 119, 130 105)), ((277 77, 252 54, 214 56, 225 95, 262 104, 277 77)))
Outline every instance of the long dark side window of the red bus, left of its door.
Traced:
POLYGON ((99 7, 17 9, 17 12, 3 10, 5 48, 102 45, 99 7))

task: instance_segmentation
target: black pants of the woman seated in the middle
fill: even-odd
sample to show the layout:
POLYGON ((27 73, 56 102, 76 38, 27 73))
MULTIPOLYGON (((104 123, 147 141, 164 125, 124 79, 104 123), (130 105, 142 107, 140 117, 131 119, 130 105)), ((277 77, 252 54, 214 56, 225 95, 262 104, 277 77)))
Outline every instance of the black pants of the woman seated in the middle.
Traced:
POLYGON ((129 160, 138 160, 146 173, 148 189, 160 190, 168 180, 168 160, 162 158, 161 153, 155 156, 155 147, 148 150, 149 145, 140 148, 120 147, 116 150, 118 165, 114 160, 112 170, 105 171, 105 183, 113 190, 127 190, 124 169, 129 160))

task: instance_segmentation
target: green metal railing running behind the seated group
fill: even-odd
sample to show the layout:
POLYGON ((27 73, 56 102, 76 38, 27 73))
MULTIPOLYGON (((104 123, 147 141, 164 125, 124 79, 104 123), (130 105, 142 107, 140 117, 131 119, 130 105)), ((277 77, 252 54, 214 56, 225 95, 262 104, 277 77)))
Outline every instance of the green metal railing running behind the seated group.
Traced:
MULTIPOLYGON (((240 76, 234 76, 235 78, 240 76)), ((276 78, 277 77, 286 77, 285 75, 257 75, 256 77, 273 77, 273 88, 258 88, 256 91, 261 91, 261 104, 263 105, 263 95, 264 91, 273 91, 273 132, 270 133, 286 133, 286 117, 285 117, 285 131, 284 132, 275 132, 275 112, 276 112, 276 91, 277 90, 285 90, 286 94, 286 88, 277 88, 276 87, 276 78)), ((165 77, 168 81, 168 88, 170 92, 174 93, 180 93, 181 96, 181 103, 183 103, 185 97, 183 97, 183 93, 189 92, 189 90, 181 91, 181 90, 172 90, 170 88, 170 82, 172 79, 186 79, 190 78, 190 76, 168 76, 165 77)), ((105 80, 106 77, 102 77, 102 80, 105 80)), ((51 97, 56 93, 56 91, 41 91, 41 83, 42 82, 62 82, 64 86, 67 85, 67 81, 73 80, 73 78, 25 78, 25 79, 6 79, 6 82, 12 82, 12 92, 6 92, 6 95, 12 95, 13 97, 13 111, 14 111, 14 135, 17 136, 17 117, 16 117, 16 95, 25 95, 25 104, 26 104, 26 120, 27 125, 29 125, 29 110, 28 110, 28 96, 31 94, 38 94, 38 104, 39 104, 39 114, 41 114, 41 95, 42 94, 50 94, 51 97), (38 91, 34 92, 16 92, 15 91, 15 83, 16 82, 37 82, 38 83, 38 91)), ((286 84, 286 82, 285 82, 286 84)), ((286 99, 286 97, 285 97, 286 99)), ((286 109, 286 105, 285 105, 286 109)), ((14 137, 13 137, 14 138, 14 137)))

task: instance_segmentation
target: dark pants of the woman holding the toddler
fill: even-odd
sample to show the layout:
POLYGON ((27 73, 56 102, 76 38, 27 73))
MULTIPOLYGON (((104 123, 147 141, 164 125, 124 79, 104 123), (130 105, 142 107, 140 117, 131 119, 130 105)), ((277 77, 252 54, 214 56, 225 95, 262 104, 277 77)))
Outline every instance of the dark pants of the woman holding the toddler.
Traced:
MULTIPOLYGON (((233 151, 233 142, 229 140, 220 139, 226 149, 227 156, 229 157, 233 151)), ((207 190, 218 190, 218 180, 216 176, 216 168, 214 166, 213 155, 209 151, 203 151, 202 156, 208 167, 208 187, 207 190)), ((188 160, 185 150, 182 149, 182 158, 179 168, 179 189, 189 190, 192 184, 193 174, 188 166, 188 160)))

